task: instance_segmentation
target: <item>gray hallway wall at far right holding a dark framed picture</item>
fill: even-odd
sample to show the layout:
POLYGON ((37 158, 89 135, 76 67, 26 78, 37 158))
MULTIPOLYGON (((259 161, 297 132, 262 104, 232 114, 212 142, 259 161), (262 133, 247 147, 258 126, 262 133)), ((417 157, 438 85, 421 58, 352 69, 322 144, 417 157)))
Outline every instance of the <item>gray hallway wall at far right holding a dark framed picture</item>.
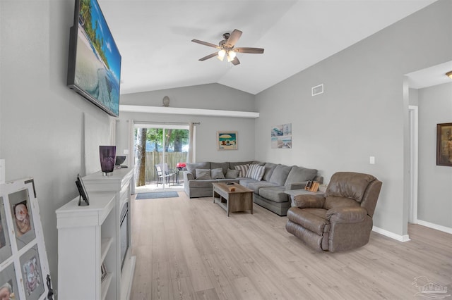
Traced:
POLYGON ((436 124, 452 123, 452 83, 419 89, 417 218, 452 228, 452 167, 436 165, 436 124))

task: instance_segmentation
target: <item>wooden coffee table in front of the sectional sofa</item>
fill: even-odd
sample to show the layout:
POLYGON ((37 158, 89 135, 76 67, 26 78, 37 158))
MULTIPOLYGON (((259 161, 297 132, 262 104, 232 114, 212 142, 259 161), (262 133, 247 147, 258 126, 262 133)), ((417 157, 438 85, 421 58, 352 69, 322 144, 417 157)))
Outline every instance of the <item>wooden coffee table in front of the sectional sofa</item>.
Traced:
POLYGON ((253 194, 252 189, 235 183, 227 185, 226 182, 213 183, 213 203, 220 205, 227 212, 234 213, 235 211, 251 211, 253 214, 253 194), (235 191, 230 191, 230 187, 234 187, 235 191))

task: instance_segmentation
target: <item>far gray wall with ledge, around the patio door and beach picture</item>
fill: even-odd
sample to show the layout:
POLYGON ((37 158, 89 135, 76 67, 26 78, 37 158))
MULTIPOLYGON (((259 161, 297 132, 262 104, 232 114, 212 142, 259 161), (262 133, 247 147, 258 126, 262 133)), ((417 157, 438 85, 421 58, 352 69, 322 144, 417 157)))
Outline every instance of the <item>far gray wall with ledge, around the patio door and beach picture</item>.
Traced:
MULTIPOLYGON (((121 104, 162 106, 169 96, 170 107, 254 111, 254 95, 224 85, 212 84, 121 95, 121 104)), ((242 161, 254 159, 254 118, 209 117, 153 113, 120 113, 117 132, 119 149, 128 148, 128 120, 188 123, 196 125, 196 161, 242 161), (238 150, 218 151, 218 130, 237 131, 238 150)))

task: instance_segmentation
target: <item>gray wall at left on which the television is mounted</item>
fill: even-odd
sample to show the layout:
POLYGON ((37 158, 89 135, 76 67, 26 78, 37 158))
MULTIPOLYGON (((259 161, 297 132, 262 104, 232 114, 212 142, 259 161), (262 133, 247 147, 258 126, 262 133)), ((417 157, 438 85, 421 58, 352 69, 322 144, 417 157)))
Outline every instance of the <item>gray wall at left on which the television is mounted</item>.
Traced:
MULTIPOLYGON (((76 175, 85 170, 83 113, 92 133, 84 142, 95 147, 109 140, 109 116, 66 87, 73 6, 73 0, 0 1, 0 158, 6 181, 35 178, 54 285, 55 210, 78 196, 76 175)), ((86 155, 99 160, 98 150, 86 155)))

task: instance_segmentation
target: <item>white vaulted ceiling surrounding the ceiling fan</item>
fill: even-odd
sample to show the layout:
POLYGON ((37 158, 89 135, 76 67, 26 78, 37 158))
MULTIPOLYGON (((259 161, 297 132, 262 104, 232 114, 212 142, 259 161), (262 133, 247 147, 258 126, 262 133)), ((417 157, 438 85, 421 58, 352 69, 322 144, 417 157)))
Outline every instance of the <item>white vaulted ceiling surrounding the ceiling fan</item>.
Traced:
POLYGON ((251 94, 275 85, 436 0, 98 0, 122 56, 121 94, 219 83, 251 94), (234 29, 232 65, 198 61, 234 29))

